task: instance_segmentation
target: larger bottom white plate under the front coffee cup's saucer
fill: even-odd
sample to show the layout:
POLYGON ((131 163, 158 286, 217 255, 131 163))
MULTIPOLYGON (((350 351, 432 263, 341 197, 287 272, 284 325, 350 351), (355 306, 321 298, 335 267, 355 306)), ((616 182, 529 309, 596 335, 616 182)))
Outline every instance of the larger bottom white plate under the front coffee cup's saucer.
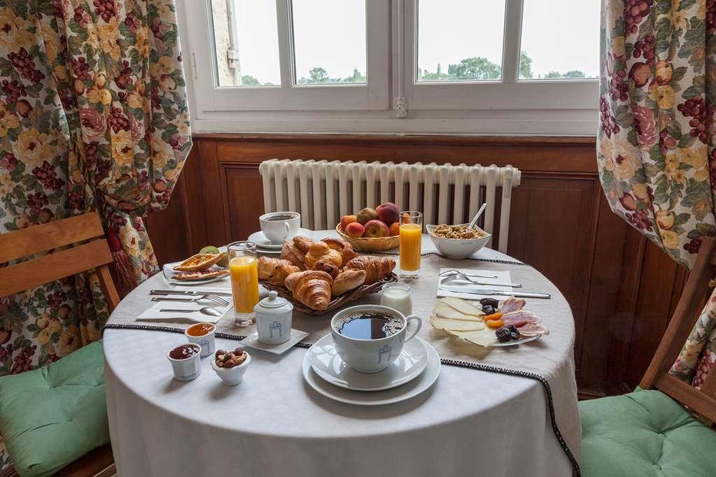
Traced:
POLYGON ((384 391, 374 391, 372 393, 364 393, 362 391, 354 391, 350 389, 338 388, 331 383, 319 378, 314 370, 311 369, 311 353, 306 353, 304 356, 304 363, 302 370, 306 383, 309 383, 311 388, 314 388, 316 393, 326 396, 333 400, 337 400, 341 403, 355 404, 355 405, 382 405, 399 403, 402 400, 410 399, 416 395, 422 393, 435 383, 437 376, 440 375, 440 356, 437 355, 435 348, 432 348, 430 343, 425 342, 421 338, 415 338, 420 340, 425 350, 427 350, 427 366, 420 375, 397 388, 392 388, 384 391))

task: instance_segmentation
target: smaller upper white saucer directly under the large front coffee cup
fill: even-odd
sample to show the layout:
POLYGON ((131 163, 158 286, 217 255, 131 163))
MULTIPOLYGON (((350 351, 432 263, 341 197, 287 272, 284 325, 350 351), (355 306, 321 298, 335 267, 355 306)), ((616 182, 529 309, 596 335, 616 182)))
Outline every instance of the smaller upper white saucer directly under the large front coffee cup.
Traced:
POLYGON ((417 378, 427 366, 427 350, 419 340, 405 343, 400 356, 380 373, 359 373, 339 357, 331 334, 316 341, 309 350, 311 368, 319 377, 339 388, 382 391, 397 388, 417 378))

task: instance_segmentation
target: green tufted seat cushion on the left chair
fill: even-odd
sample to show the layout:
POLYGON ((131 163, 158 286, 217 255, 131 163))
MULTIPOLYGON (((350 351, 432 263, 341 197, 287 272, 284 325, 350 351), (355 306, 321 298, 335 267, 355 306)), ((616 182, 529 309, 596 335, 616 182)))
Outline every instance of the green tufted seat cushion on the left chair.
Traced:
POLYGON ((0 434, 23 477, 52 475, 109 442, 102 344, 0 378, 0 434))

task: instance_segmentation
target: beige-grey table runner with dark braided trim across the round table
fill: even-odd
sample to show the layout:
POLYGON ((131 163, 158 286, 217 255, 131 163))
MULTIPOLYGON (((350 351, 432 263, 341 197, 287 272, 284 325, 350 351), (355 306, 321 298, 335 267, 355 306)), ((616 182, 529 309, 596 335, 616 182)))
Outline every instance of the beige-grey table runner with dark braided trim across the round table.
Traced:
MULTIPOLYGON (((390 255, 390 254, 380 254, 390 255)), ((579 475, 579 451, 581 447, 581 423, 577 408, 576 382, 574 379, 574 318, 569 304, 561 292, 533 267, 510 260, 465 259, 453 260, 435 253, 422 255, 421 276, 409 282, 412 289, 413 314, 423 319, 420 336, 432 344, 445 365, 460 366, 494 373, 519 375, 542 383, 553 431, 566 456, 579 475), (521 283, 521 290, 547 292, 549 300, 526 298, 526 309, 543 318, 550 334, 539 340, 508 348, 482 348, 451 338, 442 331, 433 330, 427 318, 435 305, 437 274, 440 268, 474 268, 475 270, 506 270, 514 282, 521 283)), ((379 303, 380 295, 365 297, 352 305, 379 303)), ((150 304, 149 297, 132 293, 125 298, 123 313, 113 313, 105 328, 132 328, 144 330, 176 331, 183 333, 191 324, 180 321, 140 323, 135 317, 150 304)), ((312 343, 330 332, 332 314, 304 315, 294 312, 293 327, 309 332, 309 337, 299 345, 309 348, 312 343)), ((237 328, 233 320, 223 319, 217 324, 217 336, 241 340, 256 330, 255 325, 237 328)))

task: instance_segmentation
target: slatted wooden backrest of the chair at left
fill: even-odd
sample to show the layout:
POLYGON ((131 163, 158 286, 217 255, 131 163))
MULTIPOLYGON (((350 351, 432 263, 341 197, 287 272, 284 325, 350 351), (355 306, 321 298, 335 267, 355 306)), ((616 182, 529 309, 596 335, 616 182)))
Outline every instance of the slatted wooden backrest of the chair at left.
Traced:
POLYGON ((0 268, 0 297, 95 268, 107 304, 114 310, 120 297, 107 267, 112 262, 112 253, 107 240, 102 238, 104 233, 100 216, 89 212, 0 235, 0 263, 83 242, 0 268))

